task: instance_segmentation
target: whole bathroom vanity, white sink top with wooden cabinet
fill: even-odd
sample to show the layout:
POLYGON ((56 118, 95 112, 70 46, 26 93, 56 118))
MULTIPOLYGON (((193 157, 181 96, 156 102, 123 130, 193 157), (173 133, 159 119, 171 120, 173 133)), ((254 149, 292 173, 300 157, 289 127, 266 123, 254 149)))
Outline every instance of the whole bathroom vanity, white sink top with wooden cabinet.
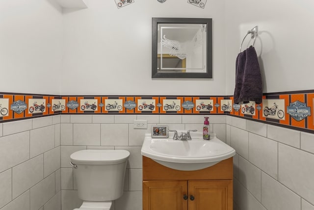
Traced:
POLYGON ((146 134, 141 154, 143 210, 233 210, 235 150, 215 134, 210 141, 201 132, 191 140, 146 134))

